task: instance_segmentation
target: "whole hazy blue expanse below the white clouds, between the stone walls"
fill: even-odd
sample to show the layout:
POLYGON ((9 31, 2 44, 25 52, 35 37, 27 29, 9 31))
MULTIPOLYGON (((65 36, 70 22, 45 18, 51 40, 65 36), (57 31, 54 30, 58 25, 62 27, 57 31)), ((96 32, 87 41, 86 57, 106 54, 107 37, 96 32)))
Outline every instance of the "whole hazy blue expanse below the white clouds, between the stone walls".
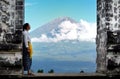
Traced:
POLYGON ((32 70, 43 69, 44 73, 51 69, 55 73, 95 72, 95 43, 85 43, 33 43, 32 70))

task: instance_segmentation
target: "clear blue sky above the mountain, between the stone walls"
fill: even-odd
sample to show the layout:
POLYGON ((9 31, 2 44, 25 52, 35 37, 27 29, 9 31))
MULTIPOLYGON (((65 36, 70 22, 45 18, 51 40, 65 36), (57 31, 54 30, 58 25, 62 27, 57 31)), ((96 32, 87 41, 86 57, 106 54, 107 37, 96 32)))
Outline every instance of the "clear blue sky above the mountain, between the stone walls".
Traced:
POLYGON ((25 0, 25 22, 31 31, 64 16, 96 22, 96 0, 25 0))

